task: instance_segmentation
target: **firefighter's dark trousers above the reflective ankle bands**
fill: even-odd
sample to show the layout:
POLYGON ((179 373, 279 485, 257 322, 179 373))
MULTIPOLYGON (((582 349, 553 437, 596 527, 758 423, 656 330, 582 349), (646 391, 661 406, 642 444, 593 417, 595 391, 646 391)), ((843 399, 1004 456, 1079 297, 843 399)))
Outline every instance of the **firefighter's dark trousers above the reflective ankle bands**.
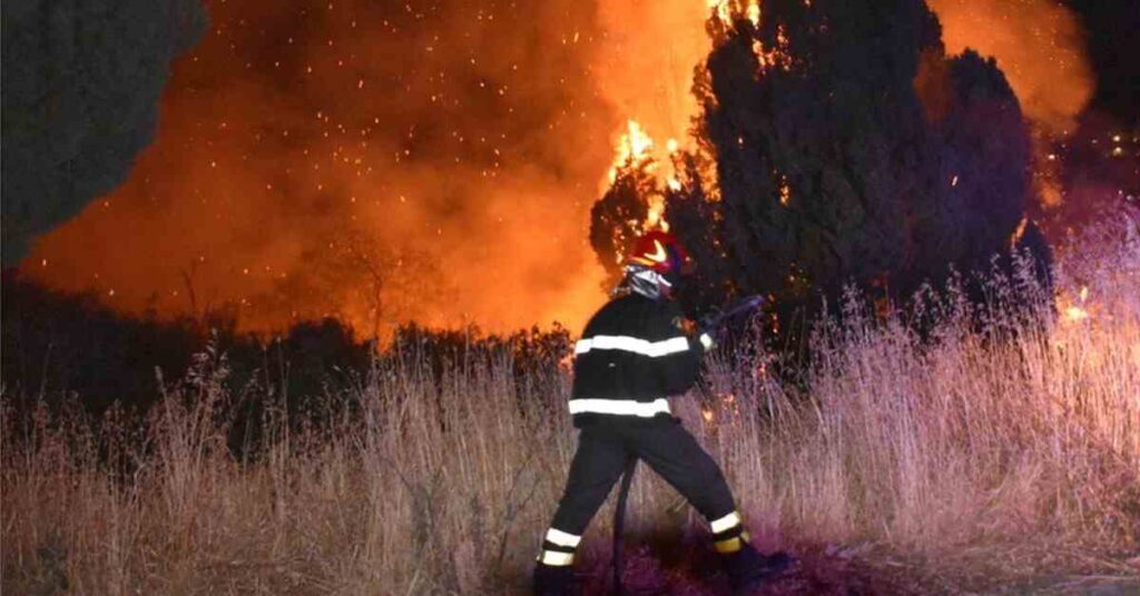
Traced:
POLYGON ((565 492, 552 528, 581 534, 633 455, 661 475, 707 520, 735 511, 720 466, 681 424, 594 425, 578 434, 565 492))

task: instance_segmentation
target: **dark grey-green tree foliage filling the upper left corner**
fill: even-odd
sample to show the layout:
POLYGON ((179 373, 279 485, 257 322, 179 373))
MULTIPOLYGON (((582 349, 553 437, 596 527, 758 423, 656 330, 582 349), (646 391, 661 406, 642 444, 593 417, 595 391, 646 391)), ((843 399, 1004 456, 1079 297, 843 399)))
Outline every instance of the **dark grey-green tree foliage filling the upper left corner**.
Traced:
POLYGON ((5 2, 5 266, 125 179, 204 27, 197 0, 5 2))

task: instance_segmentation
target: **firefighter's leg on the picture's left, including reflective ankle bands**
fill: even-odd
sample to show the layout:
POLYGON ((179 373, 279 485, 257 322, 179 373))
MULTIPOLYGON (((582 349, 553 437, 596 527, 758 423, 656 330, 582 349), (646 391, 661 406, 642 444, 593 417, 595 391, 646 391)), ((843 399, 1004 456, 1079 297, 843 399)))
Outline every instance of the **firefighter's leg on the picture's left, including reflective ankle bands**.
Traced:
POLYGON ((565 491, 554 521, 543 537, 535 569, 535 593, 569 594, 571 565, 581 534, 597 513, 625 467, 626 450, 619 436, 587 427, 578 434, 578 450, 570 464, 565 491))

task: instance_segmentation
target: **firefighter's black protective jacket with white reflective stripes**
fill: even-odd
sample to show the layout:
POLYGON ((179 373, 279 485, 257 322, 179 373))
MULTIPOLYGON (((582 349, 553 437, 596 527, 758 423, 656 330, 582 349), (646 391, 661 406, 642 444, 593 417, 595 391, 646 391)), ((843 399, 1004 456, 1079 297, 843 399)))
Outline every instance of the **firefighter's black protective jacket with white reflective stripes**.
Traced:
POLYGON ((673 422, 666 398, 695 383, 703 356, 682 320, 675 302, 634 292, 602 307, 575 345, 575 426, 673 422))

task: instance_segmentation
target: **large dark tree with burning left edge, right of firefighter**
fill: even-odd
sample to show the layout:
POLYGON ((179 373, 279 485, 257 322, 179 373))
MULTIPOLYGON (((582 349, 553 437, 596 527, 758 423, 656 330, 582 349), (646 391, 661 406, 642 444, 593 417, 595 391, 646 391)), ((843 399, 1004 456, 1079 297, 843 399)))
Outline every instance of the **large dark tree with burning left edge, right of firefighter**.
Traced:
POLYGON ((698 260, 691 310, 749 293, 811 310, 848 283, 904 299, 1040 239, 1013 91, 992 59, 946 56, 922 0, 726 6, 694 85, 715 173, 681 156, 663 190, 698 260))

